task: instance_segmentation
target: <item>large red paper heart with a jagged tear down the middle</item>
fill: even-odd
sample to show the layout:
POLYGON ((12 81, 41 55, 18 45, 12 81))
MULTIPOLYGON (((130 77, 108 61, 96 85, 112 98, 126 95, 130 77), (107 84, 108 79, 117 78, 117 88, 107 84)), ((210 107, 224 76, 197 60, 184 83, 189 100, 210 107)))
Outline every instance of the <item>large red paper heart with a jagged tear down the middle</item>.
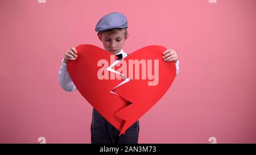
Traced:
MULTIPOLYGON (((144 115, 171 86, 176 76, 175 62, 164 62, 162 59, 163 52, 166 48, 151 45, 139 49, 129 56, 125 57, 120 64, 127 64, 127 73, 129 73, 130 61, 146 61, 159 64, 159 80, 157 85, 148 86, 152 79, 131 79, 129 82, 115 88, 123 79, 99 79, 98 71, 102 66, 98 62, 105 60, 111 65, 110 52, 98 48, 94 45, 79 45, 76 47, 77 60, 68 61, 68 73, 76 85, 81 95, 106 119, 110 124, 125 134, 127 128, 135 123, 144 115), (115 89, 114 89, 115 88, 115 89), (113 91, 116 94, 110 93, 113 91), (127 101, 131 104, 127 104, 127 101)), ((116 59, 116 58, 115 58, 116 59)), ((119 64, 118 63, 118 64, 119 64)), ((123 65, 121 65, 122 67, 123 65)), ((113 69, 118 70, 121 67, 113 69)), ((156 70, 154 70, 156 73, 156 70)), ((116 73, 105 70, 105 73, 116 73)), ((135 70, 133 70, 135 76, 135 70)), ((140 69, 140 73, 142 70, 140 69)), ((147 70, 147 73, 148 72, 147 70)), ((126 77, 129 74, 122 72, 126 77)), ((140 76, 141 77, 141 76, 140 76)))

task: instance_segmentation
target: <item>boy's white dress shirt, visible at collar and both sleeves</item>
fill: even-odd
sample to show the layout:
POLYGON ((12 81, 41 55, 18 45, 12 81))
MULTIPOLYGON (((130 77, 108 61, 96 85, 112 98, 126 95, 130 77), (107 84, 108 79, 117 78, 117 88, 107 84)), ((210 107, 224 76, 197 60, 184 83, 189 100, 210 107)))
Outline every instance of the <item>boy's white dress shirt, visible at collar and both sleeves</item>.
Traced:
MULTIPOLYGON (((120 52, 118 52, 115 55, 119 55, 122 53, 123 58, 127 57, 127 53, 125 53, 123 51, 123 49, 121 49, 120 52)), ((64 58, 63 58, 64 60, 64 58)), ((67 64, 64 63, 62 60, 62 64, 60 66, 60 70, 59 70, 59 83, 60 86, 65 90, 65 91, 75 91, 77 88, 75 86, 75 84, 73 83, 72 79, 70 78, 69 74, 68 74, 68 68, 67 68, 67 64)), ((119 61, 121 60, 116 60, 114 61, 115 64, 117 64, 119 61)), ((177 62, 175 63, 176 65, 176 76, 179 73, 179 60, 177 60, 177 62)))

